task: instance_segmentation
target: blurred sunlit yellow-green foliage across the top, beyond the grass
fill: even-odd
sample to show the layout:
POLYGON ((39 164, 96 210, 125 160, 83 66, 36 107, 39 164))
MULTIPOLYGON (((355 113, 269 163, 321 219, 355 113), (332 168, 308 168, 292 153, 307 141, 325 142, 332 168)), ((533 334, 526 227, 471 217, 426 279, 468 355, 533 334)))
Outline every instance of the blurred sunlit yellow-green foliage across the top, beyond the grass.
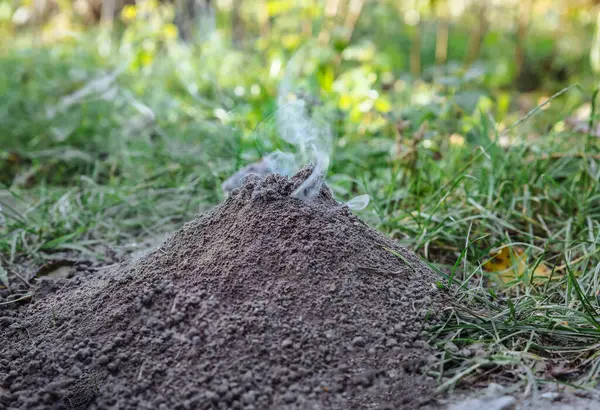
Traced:
MULTIPOLYGON (((8 40, 2 48, 9 66, 4 81, 27 81, 27 65, 36 63, 35 58, 16 57, 25 50, 50 53, 57 70, 62 65, 69 71, 59 83, 32 93, 43 89, 64 96, 93 77, 77 73, 73 61, 67 61, 78 57, 94 62, 85 64, 90 68, 118 69, 120 78, 164 73, 164 91, 182 91, 170 95, 187 99, 188 111, 200 109, 197 101, 212 101, 209 106, 218 101, 221 107, 212 108, 235 107, 228 119, 252 130, 275 108, 286 62, 309 44, 314 52, 304 63, 305 85, 347 115, 350 121, 340 130, 344 135, 385 132, 407 118, 415 122, 414 129, 424 120, 440 119, 450 135, 464 131, 459 123, 464 128, 468 117, 491 107, 502 128, 537 103, 535 97, 522 104, 515 88, 548 96, 568 84, 593 87, 592 68, 598 65, 591 43, 597 39, 594 1, 525 3, 527 7, 513 0, 483 5, 469 0, 5 1, 0 5, 0 37, 8 40), (187 3, 201 7, 194 9, 191 40, 182 42, 182 10, 174 4, 187 3), (520 31, 522 24, 526 27, 520 31)), ((147 88, 143 81, 127 82, 138 96, 147 88)), ((146 103, 169 101, 154 97, 148 96, 155 101, 146 103)), ((29 98, 39 101, 39 96, 29 98)), ((182 114, 177 112, 171 111, 172 119, 182 114)), ((22 141, 18 128, 14 136, 22 141)))

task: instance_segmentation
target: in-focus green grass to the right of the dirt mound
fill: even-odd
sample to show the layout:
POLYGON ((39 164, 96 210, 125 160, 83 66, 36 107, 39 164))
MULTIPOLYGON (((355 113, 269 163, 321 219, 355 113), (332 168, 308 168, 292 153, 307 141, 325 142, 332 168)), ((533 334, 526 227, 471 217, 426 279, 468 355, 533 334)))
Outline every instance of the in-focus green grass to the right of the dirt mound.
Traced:
MULTIPOLYGON (((548 134, 542 152, 585 152, 585 138, 548 134)), ((431 342, 440 390, 462 379, 595 387, 600 356, 600 190, 590 157, 530 158, 533 146, 465 148, 408 185, 372 181, 380 229, 440 271, 455 298, 431 342), (447 172, 440 172, 447 170, 447 172), (454 171, 457 170, 457 171, 454 171), (394 184, 392 188, 391 185, 394 184), (421 186, 426 188, 421 188, 421 186), (426 190, 427 194, 419 194, 426 190), (382 200, 388 192, 392 198, 382 200), (526 270, 505 283, 482 266, 499 246, 525 249, 526 270), (533 282, 536 267, 551 269, 533 282)))

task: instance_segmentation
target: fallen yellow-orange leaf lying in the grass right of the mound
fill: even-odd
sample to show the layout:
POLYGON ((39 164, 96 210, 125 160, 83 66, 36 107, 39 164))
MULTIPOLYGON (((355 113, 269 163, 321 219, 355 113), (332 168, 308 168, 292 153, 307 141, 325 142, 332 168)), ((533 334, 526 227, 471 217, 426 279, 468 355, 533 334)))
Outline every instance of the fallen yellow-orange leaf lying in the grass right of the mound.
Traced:
MULTIPOLYGON (((486 272, 497 274, 502 283, 515 279, 524 279, 525 274, 531 275, 535 263, 527 263, 525 251, 518 246, 504 246, 491 254, 491 258, 483 264, 486 272)), ((540 262, 533 271, 531 283, 542 284, 550 277, 552 270, 544 262, 540 262)))

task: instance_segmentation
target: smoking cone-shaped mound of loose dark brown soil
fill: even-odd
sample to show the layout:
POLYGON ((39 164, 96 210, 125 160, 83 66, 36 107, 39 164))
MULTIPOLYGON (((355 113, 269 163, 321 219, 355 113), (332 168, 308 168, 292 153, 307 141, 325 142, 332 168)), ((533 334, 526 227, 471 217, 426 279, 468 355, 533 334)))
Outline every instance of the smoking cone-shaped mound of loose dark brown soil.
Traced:
POLYGON ((413 409, 438 279, 310 174, 247 178, 138 260, 0 310, 0 407, 413 409), (394 255, 391 251, 400 255, 394 255))

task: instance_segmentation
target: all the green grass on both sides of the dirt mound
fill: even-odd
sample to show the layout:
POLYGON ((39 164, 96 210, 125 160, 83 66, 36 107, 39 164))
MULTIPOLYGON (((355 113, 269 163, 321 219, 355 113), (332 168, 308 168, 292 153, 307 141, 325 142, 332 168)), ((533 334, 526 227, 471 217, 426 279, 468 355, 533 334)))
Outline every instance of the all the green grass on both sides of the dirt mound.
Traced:
MULTIPOLYGON (((64 253, 112 263, 218 203, 223 180, 278 146, 278 78, 264 59, 217 43, 167 47, 147 67, 124 66, 126 55, 103 57, 89 38, 2 55, 2 265, 27 276, 27 266, 64 253), (216 58, 223 53, 228 58, 216 58), (247 71, 236 72, 240 64, 247 71), (115 70, 114 81, 65 106, 65 97, 115 70)), ((572 87, 548 110, 526 115, 511 104, 495 119, 500 91, 486 90, 465 108, 464 92, 481 84, 449 89, 406 80, 386 91, 376 83, 391 111, 373 108, 356 118, 338 106, 353 89, 318 91, 328 64, 317 61, 302 84, 336 118, 334 192, 340 200, 371 195, 361 217, 419 253, 456 297, 447 321, 432 329, 440 354, 430 372, 440 389, 475 376, 594 387, 598 142, 554 126, 592 92, 572 87), (438 98, 416 105, 418 93, 438 98), (399 127, 401 119, 411 123, 399 127), (516 126, 500 131, 497 123, 516 126), (451 143, 453 133, 465 137, 463 145, 451 143), (505 137, 511 143, 503 146, 505 137), (482 269, 499 246, 527 255, 528 270, 506 286, 482 269), (532 285, 541 263, 555 280, 532 285), (571 371, 559 372, 558 363, 571 371)), ((358 69, 342 64, 334 74, 360 79, 358 69)))

